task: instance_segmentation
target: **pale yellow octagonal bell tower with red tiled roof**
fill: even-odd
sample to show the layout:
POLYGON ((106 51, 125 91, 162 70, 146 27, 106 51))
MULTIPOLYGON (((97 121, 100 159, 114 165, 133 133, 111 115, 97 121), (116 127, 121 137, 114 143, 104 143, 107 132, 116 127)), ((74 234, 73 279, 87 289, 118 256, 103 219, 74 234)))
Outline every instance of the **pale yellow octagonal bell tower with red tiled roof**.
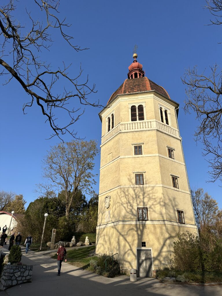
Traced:
POLYGON ((144 76, 133 54, 128 78, 102 122, 96 253, 118 253, 123 271, 153 276, 177 233, 197 234, 178 128, 179 104, 144 76))

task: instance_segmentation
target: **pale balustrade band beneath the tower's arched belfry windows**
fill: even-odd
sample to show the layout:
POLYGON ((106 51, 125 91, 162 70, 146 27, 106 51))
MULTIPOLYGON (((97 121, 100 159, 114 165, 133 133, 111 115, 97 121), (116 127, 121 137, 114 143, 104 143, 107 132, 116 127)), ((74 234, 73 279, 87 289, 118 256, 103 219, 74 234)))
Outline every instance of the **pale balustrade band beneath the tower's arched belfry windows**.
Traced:
POLYGON ((175 137, 179 137, 179 132, 177 129, 172 128, 171 126, 160 123, 156 120, 149 121, 136 121, 129 123, 120 123, 118 126, 113 128, 109 133, 102 137, 102 144, 114 136, 118 132, 128 132, 128 131, 138 131, 138 130, 160 130, 164 133, 170 134, 175 137))

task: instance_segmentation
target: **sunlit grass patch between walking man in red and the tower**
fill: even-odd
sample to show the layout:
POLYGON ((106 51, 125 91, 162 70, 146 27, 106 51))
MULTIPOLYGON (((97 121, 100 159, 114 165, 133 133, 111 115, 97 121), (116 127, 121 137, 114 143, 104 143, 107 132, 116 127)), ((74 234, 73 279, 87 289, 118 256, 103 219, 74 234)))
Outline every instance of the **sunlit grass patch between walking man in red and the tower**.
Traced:
MULTIPOLYGON (((79 249, 68 250, 67 263, 86 269, 89 266, 89 261, 92 258, 96 257, 93 256, 95 249, 96 246, 94 245, 89 247, 82 247, 79 249)), ((52 258, 57 259, 57 255, 54 255, 52 258)))

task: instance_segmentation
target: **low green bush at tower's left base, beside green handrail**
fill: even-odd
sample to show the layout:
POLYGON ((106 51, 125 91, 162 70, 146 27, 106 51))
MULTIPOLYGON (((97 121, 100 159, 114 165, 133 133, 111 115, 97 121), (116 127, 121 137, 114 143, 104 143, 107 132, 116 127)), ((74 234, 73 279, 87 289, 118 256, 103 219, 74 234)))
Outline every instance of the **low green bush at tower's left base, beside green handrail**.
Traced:
POLYGON ((105 277, 113 277, 120 274, 120 264, 115 258, 108 258, 110 255, 103 254, 98 256, 97 259, 92 259, 89 261, 89 271, 93 271, 96 274, 103 275, 105 277), (108 259, 107 259, 108 258, 108 259), (105 269, 104 261, 107 259, 107 265, 105 269))

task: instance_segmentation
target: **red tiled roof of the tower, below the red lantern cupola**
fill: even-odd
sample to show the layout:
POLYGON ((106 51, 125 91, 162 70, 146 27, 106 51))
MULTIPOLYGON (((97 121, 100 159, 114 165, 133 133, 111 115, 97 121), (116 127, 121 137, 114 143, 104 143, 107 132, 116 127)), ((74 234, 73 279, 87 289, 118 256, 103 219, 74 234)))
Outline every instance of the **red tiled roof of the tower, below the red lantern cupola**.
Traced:
POLYGON ((115 99, 118 94, 133 94, 141 91, 157 91, 159 94, 162 94, 163 96, 170 99, 167 91, 165 91, 162 86, 149 80, 147 77, 142 77, 126 79, 123 84, 120 85, 120 87, 112 94, 109 101, 107 102, 107 105, 110 104, 110 102, 112 102, 112 100, 115 99))

